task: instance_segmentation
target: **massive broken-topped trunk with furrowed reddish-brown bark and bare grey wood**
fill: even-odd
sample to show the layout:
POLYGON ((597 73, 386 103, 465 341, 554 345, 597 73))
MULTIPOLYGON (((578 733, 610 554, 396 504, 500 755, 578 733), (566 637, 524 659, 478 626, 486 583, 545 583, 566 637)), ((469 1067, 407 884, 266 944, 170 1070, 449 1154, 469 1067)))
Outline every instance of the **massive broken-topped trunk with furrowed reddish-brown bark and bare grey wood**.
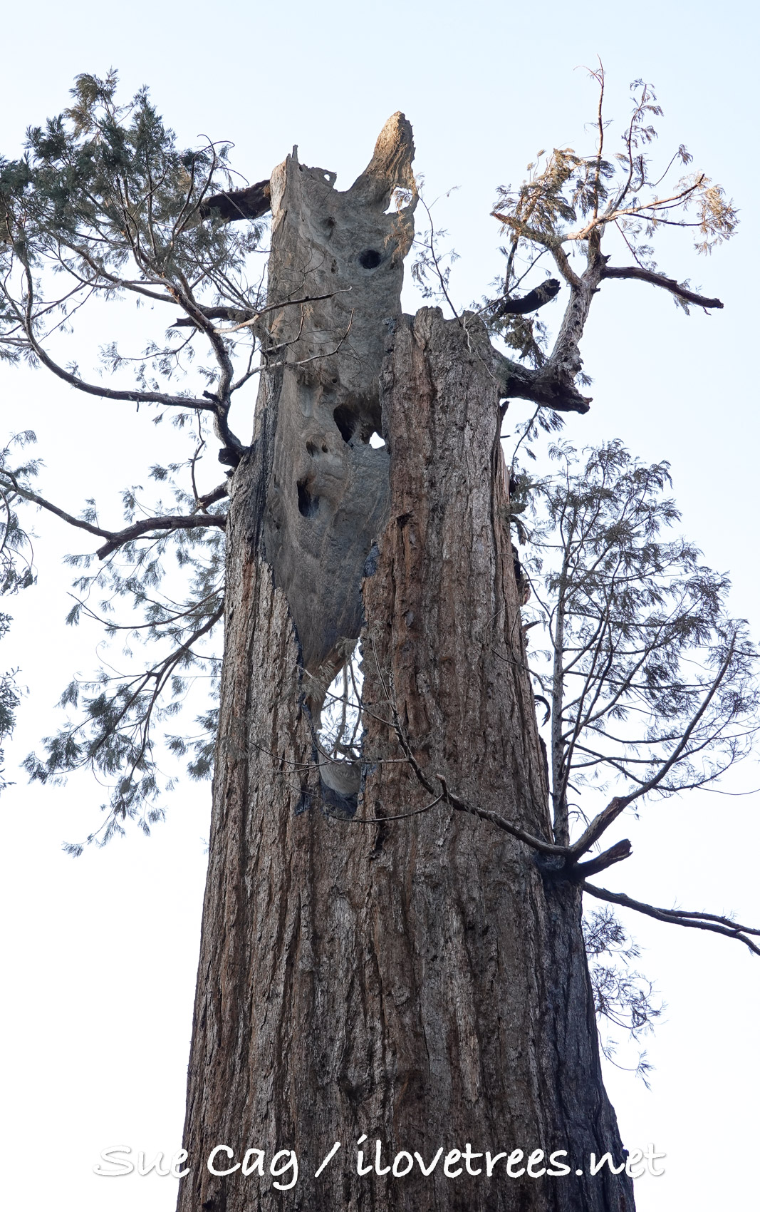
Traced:
POLYGON ((443 776, 551 839, 490 347, 434 308, 401 314, 414 198, 388 201, 411 153, 396 115, 349 191, 295 153, 272 177, 283 307, 232 482, 182 1212, 633 1208, 624 1173, 588 1173, 592 1153, 622 1159, 577 888, 445 801, 409 816, 443 776), (362 762, 341 771, 317 730, 357 638, 362 762), (444 1155, 358 1173, 376 1140, 384 1165, 444 1155), (571 1172, 511 1177, 502 1157, 489 1177, 480 1157, 448 1177, 467 1143, 566 1150, 571 1172), (215 1168, 261 1149, 264 1177, 212 1174, 221 1144, 215 1168))

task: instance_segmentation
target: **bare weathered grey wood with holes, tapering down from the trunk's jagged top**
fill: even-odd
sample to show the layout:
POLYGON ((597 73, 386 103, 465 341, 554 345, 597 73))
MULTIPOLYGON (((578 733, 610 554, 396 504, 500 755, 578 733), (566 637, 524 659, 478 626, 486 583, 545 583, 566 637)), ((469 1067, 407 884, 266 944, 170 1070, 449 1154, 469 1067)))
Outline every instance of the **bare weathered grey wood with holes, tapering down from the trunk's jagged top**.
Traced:
POLYGON ((295 150, 272 176, 270 303, 316 301, 283 307, 269 332, 270 361, 284 348, 286 365, 269 388, 278 421, 264 548, 304 668, 322 669, 324 686, 344 664, 344 641, 358 636, 361 572, 387 508, 387 451, 369 439, 380 430, 385 321, 399 311, 414 221, 411 206, 385 212, 397 187, 414 187, 413 152, 409 122, 395 114, 347 191, 295 150))

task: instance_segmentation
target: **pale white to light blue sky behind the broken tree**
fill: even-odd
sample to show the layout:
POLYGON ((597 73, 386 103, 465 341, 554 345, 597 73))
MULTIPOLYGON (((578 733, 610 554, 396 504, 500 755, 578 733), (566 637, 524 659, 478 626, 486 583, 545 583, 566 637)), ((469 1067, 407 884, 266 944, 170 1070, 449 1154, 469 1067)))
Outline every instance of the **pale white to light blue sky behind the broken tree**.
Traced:
MULTIPOLYGON (((298 143, 304 162, 335 170, 347 188, 401 108, 414 124, 426 195, 461 187, 436 216, 461 256, 453 286, 467 303, 500 269, 499 227, 489 218, 495 187, 519 183, 541 147, 592 144, 583 124, 595 93, 576 65, 601 57, 608 116, 620 120, 628 82, 654 81, 666 110, 663 161, 685 142, 695 167, 725 184, 742 211, 739 234, 712 258, 697 259, 684 236, 658 261, 720 296, 725 310, 686 318, 663 292, 608 282, 582 347, 592 412, 570 417, 565 436, 578 445, 617 436, 644 459, 672 461, 684 531, 707 562, 731 570, 733 612, 756 636, 754 13, 749 5, 716 12, 704 0, 583 11, 557 0, 530 8, 450 0, 15 5, 2 19, 0 150, 18 154, 24 127, 67 104, 76 73, 114 65, 125 97, 151 86, 180 142, 200 132, 232 139, 234 164, 251 181, 298 143)), ((409 295, 407 307, 416 305, 409 295)), ((40 488, 73 513, 96 496, 104 525, 116 525, 116 491, 144 481, 146 467, 166 457, 173 431, 155 430, 127 405, 76 398, 44 372, 5 368, 0 390, 2 433, 38 430, 40 488)), ((218 482, 218 469, 208 478, 209 487, 218 482)), ((39 585, 12 602, 18 619, 0 651, 2 668, 19 664, 30 687, 11 777, 13 759, 54 727, 52 707, 71 671, 94 665, 98 641, 94 628, 63 625, 70 599, 61 556, 84 544, 63 524, 35 526, 39 585)), ((726 788, 759 783, 749 762, 726 788)), ((45 789, 27 787, 21 773, 2 797, 4 1189, 8 1206, 169 1212, 173 1179, 104 1180, 92 1165, 106 1145, 152 1156, 180 1144, 209 789, 177 791, 150 840, 132 830, 74 862, 61 841, 99 823, 100 799, 86 778, 45 789)), ((605 873, 605 885, 760 920, 756 806, 758 796, 708 793, 646 805, 640 823, 626 823, 634 857, 605 873)), ((750 1206, 760 961, 703 932, 631 925, 645 947, 640 966, 668 1002, 647 1045, 651 1091, 609 1073, 626 1143, 654 1140, 668 1154, 664 1177, 637 1185, 638 1207, 750 1206)))

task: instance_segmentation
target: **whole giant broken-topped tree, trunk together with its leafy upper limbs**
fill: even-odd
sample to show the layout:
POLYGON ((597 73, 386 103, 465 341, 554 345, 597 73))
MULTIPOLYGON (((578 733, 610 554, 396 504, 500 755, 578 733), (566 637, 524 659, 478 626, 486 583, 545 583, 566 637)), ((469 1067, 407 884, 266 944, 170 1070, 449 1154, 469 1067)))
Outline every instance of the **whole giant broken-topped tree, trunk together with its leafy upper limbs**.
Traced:
MULTIPOLYGON (((29 760, 31 777, 93 765, 115 778, 105 834, 128 817, 149 828, 151 721, 173 710, 197 663, 214 675, 203 644, 224 613, 218 716, 213 704, 203 713, 218 727, 182 1210, 633 1207, 581 930, 581 884, 620 857, 585 854, 617 812, 603 810, 572 844, 554 835, 500 433, 506 400, 546 410, 536 419, 549 427, 587 411, 578 341, 604 279, 720 305, 644 263, 639 236, 661 223, 695 215, 704 248, 736 223, 703 175, 654 193, 641 148, 655 112, 643 88, 616 167, 603 155, 600 101, 592 155, 555 152, 517 194, 501 191, 502 288, 480 315, 451 320, 434 307, 401 314, 418 201, 402 114, 345 193, 295 153, 270 182, 234 189, 226 148, 180 150, 145 92, 120 107, 113 75, 80 76, 70 109, 0 170, 6 356, 77 391, 155 407, 192 434, 184 463, 154 468, 172 484, 184 471, 191 492, 175 484, 173 507, 144 510, 129 490, 117 531, 92 503, 75 518, 4 468, 8 492, 102 541, 103 567, 85 568, 73 618, 104 587, 105 602, 132 596, 146 638, 166 645, 149 670, 73 684, 64 705, 81 699, 84 716, 29 760), (609 265, 609 228, 633 267, 609 265), (568 244, 583 250, 581 273, 568 244), (525 316, 559 284, 514 295, 546 252, 569 296, 551 353, 525 316), (108 343, 102 360, 120 384, 109 387, 67 361, 62 335, 91 299, 129 297, 173 322, 134 358, 108 343), (231 410, 257 377, 247 444, 231 410), (212 430, 231 471, 201 492, 212 430), (184 598, 162 582, 169 543, 184 598), (362 734, 335 761, 322 711, 357 640, 362 734), (375 1139, 384 1157, 399 1154, 393 1172, 357 1172, 363 1136, 365 1156, 375 1139), (311 1178, 336 1140, 338 1159, 311 1178), (466 1142, 478 1156, 553 1153, 555 1177, 507 1177, 493 1156, 493 1176, 478 1176, 466 1142), (215 1168, 228 1176, 206 1166, 223 1143, 234 1160, 215 1168), (234 1168, 247 1149, 248 1178, 234 1168), (278 1149, 294 1150, 298 1182, 289 1156, 272 1159, 278 1149), (453 1182, 439 1149, 466 1150, 467 1173, 453 1182), (617 1164, 592 1176, 592 1154, 617 1164)), ((419 261, 420 276, 431 273, 445 292, 433 238, 419 261)), ((202 772, 205 736, 198 747, 202 772)))

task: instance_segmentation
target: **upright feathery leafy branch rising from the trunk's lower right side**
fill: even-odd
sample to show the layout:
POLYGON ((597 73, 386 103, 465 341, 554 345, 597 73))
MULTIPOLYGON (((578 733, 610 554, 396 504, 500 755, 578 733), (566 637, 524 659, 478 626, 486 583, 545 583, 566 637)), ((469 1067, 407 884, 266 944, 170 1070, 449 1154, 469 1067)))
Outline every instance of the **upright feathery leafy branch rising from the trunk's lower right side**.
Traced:
MULTIPOLYGON (((668 464, 645 467, 620 441, 587 451, 583 464, 569 445, 551 453, 559 473, 522 484, 535 511, 526 568, 536 607, 524 628, 541 624, 549 642, 531 673, 551 721, 554 836, 569 844, 574 817, 589 824, 571 791, 624 787, 595 827, 606 828, 644 796, 720 778, 750 751, 760 697, 756 648, 726 611, 727 576, 699 565, 692 543, 661 538, 680 519, 662 497, 668 464)), ((509 508, 522 537, 524 508, 509 508)), ((614 861, 628 853, 618 842, 614 861)))

